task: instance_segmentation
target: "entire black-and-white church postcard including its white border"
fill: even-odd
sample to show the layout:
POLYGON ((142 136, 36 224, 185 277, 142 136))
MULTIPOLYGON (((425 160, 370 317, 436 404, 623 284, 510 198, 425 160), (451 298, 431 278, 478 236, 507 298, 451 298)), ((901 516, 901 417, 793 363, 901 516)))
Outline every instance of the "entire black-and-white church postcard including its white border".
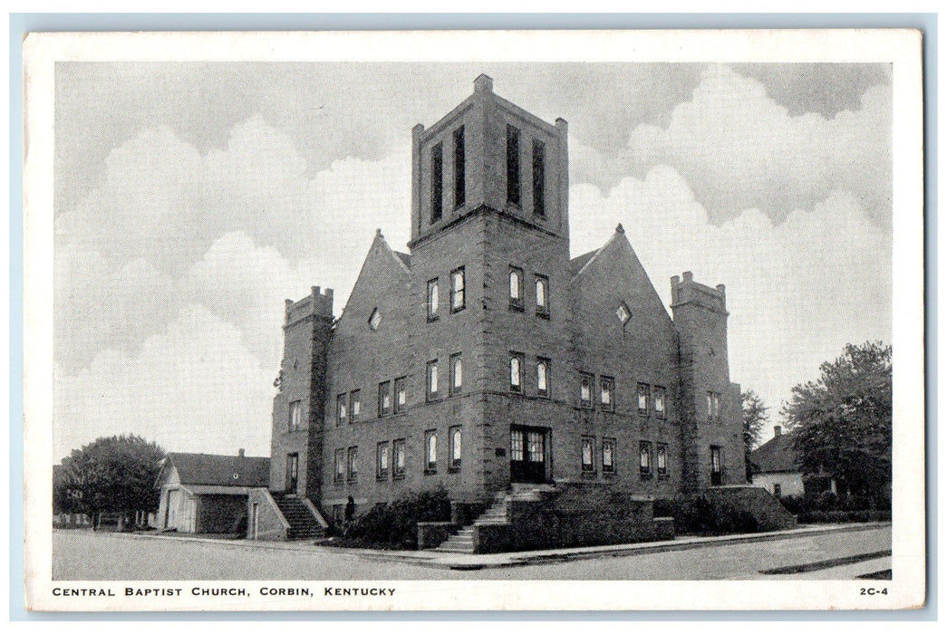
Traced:
POLYGON ((920 44, 30 34, 27 608, 921 607, 920 44))

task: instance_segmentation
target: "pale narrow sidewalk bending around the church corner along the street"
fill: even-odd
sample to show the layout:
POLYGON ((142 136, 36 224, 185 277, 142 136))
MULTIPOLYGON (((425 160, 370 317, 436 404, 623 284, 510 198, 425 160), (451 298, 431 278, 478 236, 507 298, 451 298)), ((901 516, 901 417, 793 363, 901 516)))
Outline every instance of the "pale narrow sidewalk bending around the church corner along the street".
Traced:
POLYGON ((497 553, 493 555, 467 555, 463 553, 441 553, 438 551, 377 551, 365 548, 336 548, 320 546, 302 541, 250 541, 215 539, 210 537, 185 537, 174 534, 116 534, 138 539, 170 539, 176 541, 205 542, 228 548, 248 548, 255 550, 283 550, 300 553, 318 553, 322 555, 350 555, 363 559, 400 561, 402 563, 451 570, 483 570, 529 566, 576 559, 599 557, 618 557, 634 555, 652 555, 670 551, 683 551, 724 544, 745 544, 753 542, 777 541, 796 537, 813 537, 831 533, 852 533, 867 531, 890 522, 868 522, 859 524, 808 525, 788 531, 773 533, 751 533, 727 535, 722 537, 678 537, 669 541, 650 541, 634 544, 616 544, 611 546, 584 546, 580 548, 558 548, 545 551, 527 551, 519 553, 497 553))

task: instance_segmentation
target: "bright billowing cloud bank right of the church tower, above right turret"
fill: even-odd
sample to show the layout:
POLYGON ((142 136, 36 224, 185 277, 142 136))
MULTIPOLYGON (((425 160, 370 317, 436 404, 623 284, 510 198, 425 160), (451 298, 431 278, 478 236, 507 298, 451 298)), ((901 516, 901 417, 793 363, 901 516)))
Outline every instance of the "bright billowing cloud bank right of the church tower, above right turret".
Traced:
POLYGON ((653 167, 607 196, 571 189, 574 254, 598 248, 621 222, 655 289, 670 305, 670 276, 725 284, 731 379, 773 406, 817 375, 845 343, 891 340, 891 237, 861 201, 836 191, 775 223, 759 209, 710 221, 685 178, 653 167), (583 227, 594 227, 583 230, 583 227))

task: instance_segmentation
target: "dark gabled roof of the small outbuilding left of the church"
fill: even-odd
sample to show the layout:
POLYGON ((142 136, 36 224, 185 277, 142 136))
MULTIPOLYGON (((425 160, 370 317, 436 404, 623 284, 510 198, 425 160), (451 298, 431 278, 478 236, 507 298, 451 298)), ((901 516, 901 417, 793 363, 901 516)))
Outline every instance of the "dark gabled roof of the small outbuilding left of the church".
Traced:
POLYGON ((162 461, 158 483, 174 468, 181 484, 216 486, 268 486, 270 459, 253 456, 221 456, 212 453, 171 452, 162 461))

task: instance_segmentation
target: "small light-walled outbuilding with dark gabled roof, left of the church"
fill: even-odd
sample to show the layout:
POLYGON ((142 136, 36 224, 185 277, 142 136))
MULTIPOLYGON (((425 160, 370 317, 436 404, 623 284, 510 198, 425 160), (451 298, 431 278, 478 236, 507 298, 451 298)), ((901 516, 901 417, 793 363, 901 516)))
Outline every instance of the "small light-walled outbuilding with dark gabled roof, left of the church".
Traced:
POLYGON ((171 452, 161 461, 158 530, 244 533, 254 489, 269 484, 270 459, 171 452))

